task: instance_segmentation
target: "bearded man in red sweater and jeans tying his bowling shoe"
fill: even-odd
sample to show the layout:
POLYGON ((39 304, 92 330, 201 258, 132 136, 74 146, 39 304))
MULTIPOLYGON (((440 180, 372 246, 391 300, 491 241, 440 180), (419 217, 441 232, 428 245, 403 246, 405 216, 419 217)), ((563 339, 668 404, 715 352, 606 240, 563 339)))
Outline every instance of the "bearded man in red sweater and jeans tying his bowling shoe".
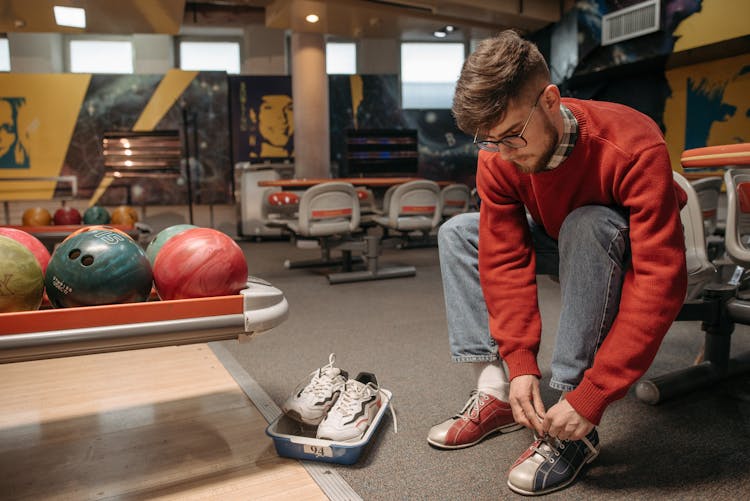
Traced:
POLYGON ((479 215, 441 228, 441 270, 452 356, 474 362, 478 384, 428 441, 467 447, 525 426, 536 439, 508 485, 544 494, 596 457, 606 407, 649 367, 682 305, 686 195, 652 120, 561 98, 538 49, 512 31, 467 59, 453 113, 481 150, 482 203, 479 215), (561 290, 550 366, 561 397, 549 409, 539 390, 537 272, 559 275, 561 290))

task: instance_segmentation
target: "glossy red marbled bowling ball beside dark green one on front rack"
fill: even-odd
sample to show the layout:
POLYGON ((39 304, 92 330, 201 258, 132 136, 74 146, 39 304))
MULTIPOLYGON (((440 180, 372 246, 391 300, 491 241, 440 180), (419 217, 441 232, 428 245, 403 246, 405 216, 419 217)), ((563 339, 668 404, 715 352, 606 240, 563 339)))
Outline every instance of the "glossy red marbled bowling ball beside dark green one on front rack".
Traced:
POLYGON ((170 238, 157 254, 154 285, 162 299, 237 294, 247 285, 245 255, 218 230, 185 230, 170 238))

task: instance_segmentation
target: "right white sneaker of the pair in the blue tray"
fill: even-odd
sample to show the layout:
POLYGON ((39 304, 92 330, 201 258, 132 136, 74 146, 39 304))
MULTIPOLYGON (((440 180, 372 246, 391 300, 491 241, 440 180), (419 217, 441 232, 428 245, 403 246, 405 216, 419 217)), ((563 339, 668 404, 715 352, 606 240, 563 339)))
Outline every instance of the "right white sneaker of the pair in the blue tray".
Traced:
POLYGON ((318 426, 317 438, 356 442, 364 436, 382 405, 375 375, 360 372, 344 385, 341 396, 318 426))

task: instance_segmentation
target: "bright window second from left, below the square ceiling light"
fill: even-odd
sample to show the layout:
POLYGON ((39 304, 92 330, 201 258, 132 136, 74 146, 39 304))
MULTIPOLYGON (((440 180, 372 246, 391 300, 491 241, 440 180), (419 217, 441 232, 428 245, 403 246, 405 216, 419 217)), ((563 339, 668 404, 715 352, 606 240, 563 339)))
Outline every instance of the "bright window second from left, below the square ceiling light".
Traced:
POLYGON ((71 40, 72 73, 133 73, 133 43, 129 40, 71 40))

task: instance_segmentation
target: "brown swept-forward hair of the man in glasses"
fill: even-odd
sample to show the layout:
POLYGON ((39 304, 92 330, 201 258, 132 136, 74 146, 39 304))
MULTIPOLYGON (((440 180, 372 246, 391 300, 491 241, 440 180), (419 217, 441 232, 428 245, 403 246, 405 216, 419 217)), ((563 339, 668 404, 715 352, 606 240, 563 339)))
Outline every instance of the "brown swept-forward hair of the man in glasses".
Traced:
POLYGON ((456 83, 456 125, 470 135, 489 130, 503 119, 509 100, 538 92, 549 81, 539 49, 515 31, 483 40, 464 62, 456 83))

